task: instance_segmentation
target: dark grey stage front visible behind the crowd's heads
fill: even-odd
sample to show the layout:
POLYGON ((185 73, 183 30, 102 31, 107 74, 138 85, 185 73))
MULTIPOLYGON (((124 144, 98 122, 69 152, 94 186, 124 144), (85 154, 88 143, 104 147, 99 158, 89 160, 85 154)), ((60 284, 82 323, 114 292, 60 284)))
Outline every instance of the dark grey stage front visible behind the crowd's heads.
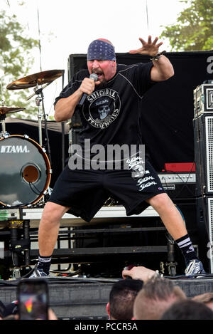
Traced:
MULTIPOLYGON (((213 292, 213 275, 207 278, 170 278, 187 297, 213 292)), ((62 320, 107 319, 107 302, 114 282, 120 278, 48 278, 50 308, 62 320)), ((19 280, 0 281, 0 300, 16 300, 19 280)))

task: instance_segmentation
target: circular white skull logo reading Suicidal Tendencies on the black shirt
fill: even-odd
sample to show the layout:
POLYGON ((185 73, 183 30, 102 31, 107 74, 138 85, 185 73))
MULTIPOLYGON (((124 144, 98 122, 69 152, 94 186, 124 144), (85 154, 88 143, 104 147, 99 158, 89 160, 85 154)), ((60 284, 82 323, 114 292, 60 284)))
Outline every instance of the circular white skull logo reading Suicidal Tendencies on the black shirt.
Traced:
POLYGON ((89 108, 84 108, 83 114, 93 127, 105 129, 120 113, 121 100, 116 90, 109 88, 96 90, 87 96, 87 102, 89 108))

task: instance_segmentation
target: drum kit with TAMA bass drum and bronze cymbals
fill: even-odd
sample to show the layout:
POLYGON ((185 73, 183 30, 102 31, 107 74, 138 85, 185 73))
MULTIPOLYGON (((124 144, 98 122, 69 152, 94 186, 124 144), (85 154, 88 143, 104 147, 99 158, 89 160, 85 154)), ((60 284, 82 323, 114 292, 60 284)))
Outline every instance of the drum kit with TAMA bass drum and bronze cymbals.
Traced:
POLYGON ((55 79, 60 78, 64 70, 51 70, 28 75, 6 86, 9 90, 34 87, 35 104, 38 106, 38 137, 39 143, 28 135, 10 135, 6 132, 6 114, 25 110, 19 107, 6 107, 4 101, 0 106, 0 206, 2 207, 32 207, 44 200, 47 194, 51 167, 48 155, 43 148, 42 118, 45 120, 43 89, 55 79), (40 86, 40 88, 39 88, 40 86), (43 113, 42 110, 43 109, 43 113))

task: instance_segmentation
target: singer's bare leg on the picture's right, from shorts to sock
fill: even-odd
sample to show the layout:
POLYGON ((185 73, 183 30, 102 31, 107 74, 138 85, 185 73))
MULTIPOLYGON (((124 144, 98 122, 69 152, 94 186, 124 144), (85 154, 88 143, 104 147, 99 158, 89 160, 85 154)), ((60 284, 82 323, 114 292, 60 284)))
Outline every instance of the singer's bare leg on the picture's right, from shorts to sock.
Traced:
POLYGON ((185 222, 173 201, 168 197, 168 194, 158 194, 147 199, 146 202, 158 212, 165 228, 173 236, 174 240, 187 234, 185 222))

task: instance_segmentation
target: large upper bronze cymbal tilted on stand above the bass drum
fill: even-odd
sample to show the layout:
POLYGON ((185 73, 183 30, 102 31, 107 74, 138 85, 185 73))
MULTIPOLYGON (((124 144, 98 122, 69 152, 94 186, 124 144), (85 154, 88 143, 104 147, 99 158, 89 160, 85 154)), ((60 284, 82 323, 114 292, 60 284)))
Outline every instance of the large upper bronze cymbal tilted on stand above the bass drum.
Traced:
POLYGON ((13 81, 13 83, 9 83, 6 88, 23 89, 35 87, 36 85, 43 85, 44 83, 50 83, 51 81, 60 78, 62 73, 64 73, 64 70, 50 70, 27 75, 24 78, 13 81))

